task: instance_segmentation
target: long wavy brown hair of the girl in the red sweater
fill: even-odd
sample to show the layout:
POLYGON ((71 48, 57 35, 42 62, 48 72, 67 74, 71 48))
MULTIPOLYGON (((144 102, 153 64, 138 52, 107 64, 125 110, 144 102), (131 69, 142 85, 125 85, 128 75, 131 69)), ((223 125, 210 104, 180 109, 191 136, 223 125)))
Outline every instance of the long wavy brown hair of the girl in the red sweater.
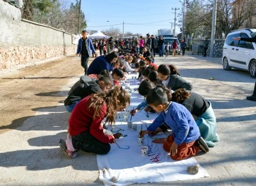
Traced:
POLYGON ((90 99, 90 104, 87 110, 93 110, 93 119, 100 117, 102 115, 101 108, 103 104, 107 105, 107 116, 106 122, 111 124, 115 123, 116 108, 118 105, 125 106, 127 103, 130 104, 129 94, 122 89, 122 86, 115 86, 108 92, 100 92, 98 94, 93 94, 90 99), (118 104, 117 101, 120 101, 118 104))

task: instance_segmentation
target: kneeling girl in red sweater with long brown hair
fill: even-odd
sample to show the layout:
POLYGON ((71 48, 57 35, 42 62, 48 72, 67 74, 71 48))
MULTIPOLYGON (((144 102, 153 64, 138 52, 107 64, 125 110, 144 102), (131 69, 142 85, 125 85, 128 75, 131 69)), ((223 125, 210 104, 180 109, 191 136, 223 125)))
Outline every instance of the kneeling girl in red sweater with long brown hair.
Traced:
POLYGON ((108 154, 111 148, 109 143, 115 143, 120 133, 107 136, 104 134, 101 122, 106 117, 106 122, 115 123, 116 111, 124 111, 129 103, 130 97, 121 86, 82 99, 68 120, 71 139, 66 142, 60 140, 61 150, 70 159, 76 157, 75 150, 108 154))

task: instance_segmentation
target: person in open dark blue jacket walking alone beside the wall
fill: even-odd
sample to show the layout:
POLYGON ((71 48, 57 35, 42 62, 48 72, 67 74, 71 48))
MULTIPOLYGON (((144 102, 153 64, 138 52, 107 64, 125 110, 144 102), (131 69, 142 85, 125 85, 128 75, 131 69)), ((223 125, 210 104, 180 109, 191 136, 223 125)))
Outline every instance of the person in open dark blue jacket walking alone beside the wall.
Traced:
POLYGON ((82 31, 82 36, 83 38, 79 39, 78 41, 76 55, 78 54, 79 56, 81 55, 81 66, 83 66, 84 75, 86 75, 91 50, 92 50, 92 53, 95 54, 95 57, 97 57, 97 54, 93 47, 92 39, 88 38, 88 32, 85 30, 82 31))

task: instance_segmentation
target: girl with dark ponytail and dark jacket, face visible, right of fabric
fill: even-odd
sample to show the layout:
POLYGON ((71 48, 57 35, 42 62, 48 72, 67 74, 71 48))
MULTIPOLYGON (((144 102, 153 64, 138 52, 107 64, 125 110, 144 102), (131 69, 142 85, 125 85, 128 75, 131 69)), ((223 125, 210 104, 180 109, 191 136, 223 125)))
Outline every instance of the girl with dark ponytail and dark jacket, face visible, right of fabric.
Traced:
POLYGON ((192 90, 191 83, 180 77, 177 68, 173 65, 160 64, 157 69, 157 74, 159 78, 157 84, 164 85, 164 87, 172 90, 180 88, 192 90))

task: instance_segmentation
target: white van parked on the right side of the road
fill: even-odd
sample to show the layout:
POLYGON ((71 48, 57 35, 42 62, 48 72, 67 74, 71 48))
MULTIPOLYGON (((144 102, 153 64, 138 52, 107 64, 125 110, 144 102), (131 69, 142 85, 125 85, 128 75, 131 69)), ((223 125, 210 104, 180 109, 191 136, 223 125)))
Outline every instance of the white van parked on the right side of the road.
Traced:
POLYGON ((234 40, 233 38, 252 38, 256 29, 239 29, 231 31, 223 45, 222 65, 226 71, 232 68, 243 69, 250 72, 255 78, 256 69, 256 43, 234 40))

